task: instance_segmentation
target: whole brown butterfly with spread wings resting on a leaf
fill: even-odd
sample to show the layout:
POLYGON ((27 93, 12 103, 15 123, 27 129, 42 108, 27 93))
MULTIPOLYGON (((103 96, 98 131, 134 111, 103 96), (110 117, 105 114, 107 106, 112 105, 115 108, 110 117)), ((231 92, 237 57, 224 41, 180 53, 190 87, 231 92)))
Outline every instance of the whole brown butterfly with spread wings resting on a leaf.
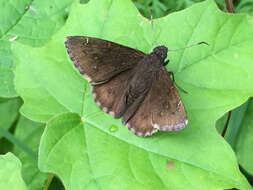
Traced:
POLYGON ((90 82, 95 102, 138 136, 185 127, 184 105, 165 69, 167 48, 150 54, 110 41, 67 37, 71 60, 90 82))

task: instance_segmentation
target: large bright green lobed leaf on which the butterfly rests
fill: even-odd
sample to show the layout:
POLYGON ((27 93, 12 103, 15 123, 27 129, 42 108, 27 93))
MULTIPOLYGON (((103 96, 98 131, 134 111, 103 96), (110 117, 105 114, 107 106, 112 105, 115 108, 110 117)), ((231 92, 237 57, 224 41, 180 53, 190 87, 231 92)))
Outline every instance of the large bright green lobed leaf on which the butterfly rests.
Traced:
POLYGON ((249 51, 253 45, 252 18, 222 13, 209 0, 153 22, 152 29, 151 23, 130 1, 92 0, 87 5, 73 5, 66 25, 47 46, 31 48, 14 44, 18 64, 15 84, 25 102, 22 113, 33 120, 46 122, 57 113, 70 111, 78 113, 84 120, 85 131, 75 114, 63 114, 49 123, 48 131, 51 125, 59 126, 52 127, 56 128, 54 132, 46 131, 44 134, 40 168, 57 173, 67 189, 82 189, 86 182, 104 184, 104 189, 115 188, 117 183, 130 183, 129 187, 138 188, 133 187, 135 180, 123 180, 128 173, 119 172, 121 167, 125 170, 135 167, 122 166, 120 162, 122 157, 128 158, 125 154, 121 156, 121 150, 134 147, 141 152, 136 162, 143 161, 140 163, 142 167, 136 165, 134 168, 136 171, 133 173, 138 175, 132 177, 143 183, 139 189, 149 185, 149 181, 141 180, 147 178, 145 170, 149 169, 148 172, 160 180, 156 185, 163 183, 165 189, 173 189, 169 187, 171 180, 180 188, 185 178, 190 180, 182 184, 182 189, 250 189, 238 169, 232 149, 214 126, 220 116, 253 94, 253 55, 249 51), (68 35, 99 37, 144 52, 150 52, 158 44, 175 49, 200 41, 208 42, 209 46, 168 53, 171 60, 168 70, 175 73, 177 84, 188 92, 179 91, 186 106, 188 126, 182 131, 160 132, 149 138, 140 138, 122 126, 120 120, 103 113, 93 101, 89 84, 68 58, 64 47, 64 38, 68 35), (55 150, 54 146, 61 148, 55 150), (98 154, 97 151, 105 150, 105 146, 104 159, 97 162, 91 162, 93 157, 87 159, 86 153, 98 154), (109 179, 104 179, 99 174, 112 165, 105 158, 110 158, 115 146, 118 147, 113 155, 116 169, 108 174, 109 179), (145 161, 143 154, 152 155, 150 160, 172 160, 180 169, 170 176, 168 182, 160 175, 163 171, 159 168, 164 167, 164 160, 155 163, 157 172, 161 172, 158 175, 155 169, 151 170, 153 161, 145 161), (74 165, 69 162, 73 159, 76 161, 74 165), (100 167, 101 172, 93 170, 93 167, 100 167), (101 182, 100 177, 105 182, 101 182), (109 180, 112 183, 108 183, 109 180), (192 186, 188 182, 192 182, 192 186))

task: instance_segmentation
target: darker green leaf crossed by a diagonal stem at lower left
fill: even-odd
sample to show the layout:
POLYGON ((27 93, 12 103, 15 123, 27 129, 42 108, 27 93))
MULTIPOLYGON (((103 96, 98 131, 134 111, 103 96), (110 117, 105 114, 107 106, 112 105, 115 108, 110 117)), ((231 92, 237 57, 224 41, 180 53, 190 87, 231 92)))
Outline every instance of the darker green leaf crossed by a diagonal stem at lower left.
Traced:
MULTIPOLYGON (((40 137, 44 130, 44 125, 35 123, 21 116, 15 130, 15 137, 30 149, 30 151, 38 152, 40 137)), ((14 153, 22 161, 22 176, 30 190, 41 190, 48 178, 48 174, 42 173, 38 169, 36 157, 27 154, 19 146, 14 147, 14 153)))

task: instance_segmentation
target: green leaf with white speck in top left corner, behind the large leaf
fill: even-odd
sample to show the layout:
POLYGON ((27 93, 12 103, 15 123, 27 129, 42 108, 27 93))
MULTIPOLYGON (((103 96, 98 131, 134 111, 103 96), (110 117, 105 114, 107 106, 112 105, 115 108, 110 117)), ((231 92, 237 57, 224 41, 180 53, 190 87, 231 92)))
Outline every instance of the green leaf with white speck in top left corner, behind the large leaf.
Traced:
POLYGON ((65 23, 72 0, 0 0, 0 96, 15 97, 13 41, 31 46, 45 44, 65 23))

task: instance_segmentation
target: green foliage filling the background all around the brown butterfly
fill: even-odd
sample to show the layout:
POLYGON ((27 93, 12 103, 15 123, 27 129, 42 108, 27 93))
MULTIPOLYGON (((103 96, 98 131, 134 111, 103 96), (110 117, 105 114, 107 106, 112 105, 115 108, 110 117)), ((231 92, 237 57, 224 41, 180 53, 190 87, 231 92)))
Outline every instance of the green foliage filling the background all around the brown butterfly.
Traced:
MULTIPOLYGON (((49 173, 68 190, 252 189, 246 180, 253 175, 252 101, 233 116, 225 136, 231 146, 215 125, 222 131, 226 116, 216 121, 253 94, 253 18, 224 13, 212 0, 150 3, 135 1, 144 16, 151 7, 161 17, 153 27, 131 1, 0 0, 0 152, 12 152, 0 156, 1 189, 48 189, 49 173), (145 53, 158 44, 208 42, 168 53, 167 69, 188 92, 179 91, 187 127, 141 138, 103 113, 68 58, 69 35, 145 53)), ((235 10, 251 14, 251 3, 238 1, 235 10)), ((53 181, 50 188, 63 187, 53 181)))

